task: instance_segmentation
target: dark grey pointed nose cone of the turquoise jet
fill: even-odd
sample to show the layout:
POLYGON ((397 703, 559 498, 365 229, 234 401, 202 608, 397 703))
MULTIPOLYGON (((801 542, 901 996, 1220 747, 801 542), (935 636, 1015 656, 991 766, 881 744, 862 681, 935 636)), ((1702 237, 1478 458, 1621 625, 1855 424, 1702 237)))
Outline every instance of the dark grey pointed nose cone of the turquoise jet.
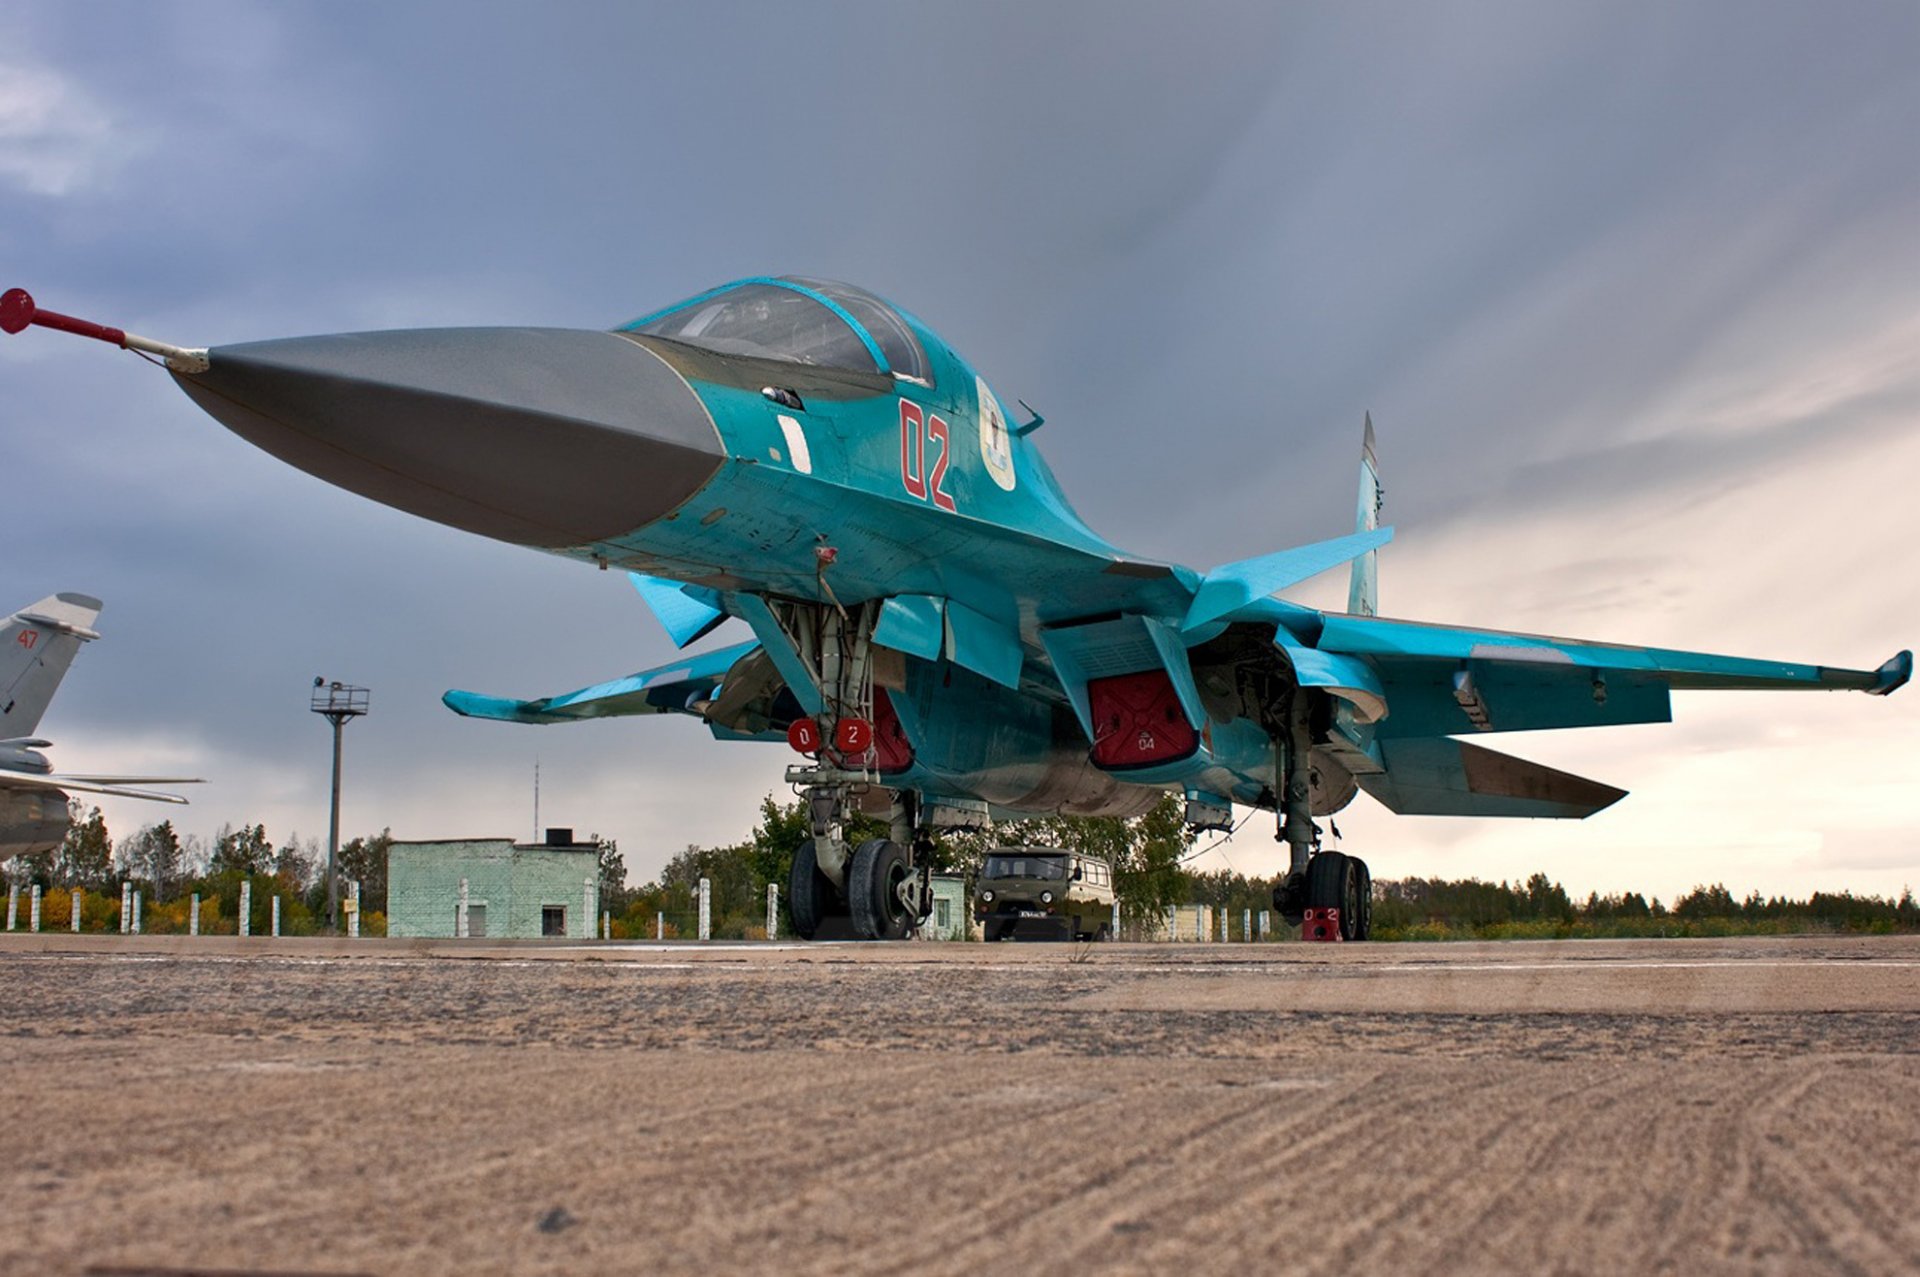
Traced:
POLYGON ((330 484, 557 549, 632 532, 720 469, 707 405, 647 348, 578 328, 413 328, 217 346, 175 374, 330 484))

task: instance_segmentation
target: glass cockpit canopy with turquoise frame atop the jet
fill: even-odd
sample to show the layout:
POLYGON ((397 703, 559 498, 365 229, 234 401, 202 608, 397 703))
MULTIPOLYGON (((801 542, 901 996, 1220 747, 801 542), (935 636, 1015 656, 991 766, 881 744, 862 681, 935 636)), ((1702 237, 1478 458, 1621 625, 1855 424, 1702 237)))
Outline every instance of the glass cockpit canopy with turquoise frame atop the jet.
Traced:
POLYGON ((626 326, 726 355, 933 382, 927 351, 897 309, 851 284, 783 275, 722 284, 626 326))

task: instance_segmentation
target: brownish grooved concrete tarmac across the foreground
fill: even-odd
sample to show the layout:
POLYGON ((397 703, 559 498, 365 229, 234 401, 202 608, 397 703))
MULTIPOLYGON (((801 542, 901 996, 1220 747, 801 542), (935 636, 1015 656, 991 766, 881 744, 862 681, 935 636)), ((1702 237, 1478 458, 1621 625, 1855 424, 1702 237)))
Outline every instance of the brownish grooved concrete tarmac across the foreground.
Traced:
POLYGON ((1920 937, 0 935, 0 1271, 1920 1269, 1920 937))

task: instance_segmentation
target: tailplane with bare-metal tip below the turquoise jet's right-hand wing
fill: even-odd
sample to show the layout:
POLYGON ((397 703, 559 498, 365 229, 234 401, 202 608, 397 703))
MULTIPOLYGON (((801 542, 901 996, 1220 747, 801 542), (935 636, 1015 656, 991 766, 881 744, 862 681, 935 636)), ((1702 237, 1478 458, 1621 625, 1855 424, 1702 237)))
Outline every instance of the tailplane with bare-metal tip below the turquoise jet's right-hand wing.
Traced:
POLYGON ((1384 741, 1386 772, 1356 776, 1400 816, 1534 816, 1582 820, 1626 789, 1450 737, 1384 741))

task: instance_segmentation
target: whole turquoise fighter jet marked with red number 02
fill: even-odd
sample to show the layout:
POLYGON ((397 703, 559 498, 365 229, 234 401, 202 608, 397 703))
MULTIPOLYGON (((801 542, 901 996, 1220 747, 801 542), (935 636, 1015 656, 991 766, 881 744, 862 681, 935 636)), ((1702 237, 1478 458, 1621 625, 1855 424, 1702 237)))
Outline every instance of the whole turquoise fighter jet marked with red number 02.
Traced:
POLYGON ((680 647, 743 643, 540 699, 447 691, 470 718, 689 714, 785 741, 812 839, 803 935, 900 937, 931 910, 943 826, 1133 816, 1185 795, 1196 830, 1277 814, 1275 906, 1371 928, 1361 858, 1317 818, 1359 791, 1404 814, 1588 816, 1620 789, 1476 743, 1665 722, 1672 691, 1851 687, 1912 672, 1749 661, 1377 614, 1371 421, 1356 532, 1196 570, 1123 551, 1068 503, 987 378, 927 325, 849 284, 755 277, 611 332, 432 328, 188 349, 38 311, 163 361, 269 453, 386 505, 624 568, 680 647), (1348 609, 1277 597, 1352 565, 1348 609), (891 837, 851 847, 860 805, 891 837))

